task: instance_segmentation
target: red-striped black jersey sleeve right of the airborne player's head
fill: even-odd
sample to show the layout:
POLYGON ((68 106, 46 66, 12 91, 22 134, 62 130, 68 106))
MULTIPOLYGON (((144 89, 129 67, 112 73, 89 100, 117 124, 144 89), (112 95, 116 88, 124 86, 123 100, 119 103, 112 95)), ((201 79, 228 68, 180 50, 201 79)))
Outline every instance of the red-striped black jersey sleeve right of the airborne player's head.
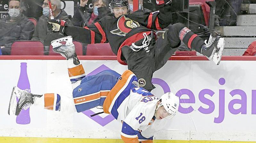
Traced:
POLYGON ((165 5, 164 7, 161 7, 159 11, 135 11, 131 15, 134 16, 131 17, 133 20, 136 20, 143 26, 153 30, 164 29, 172 22, 170 5, 165 5))

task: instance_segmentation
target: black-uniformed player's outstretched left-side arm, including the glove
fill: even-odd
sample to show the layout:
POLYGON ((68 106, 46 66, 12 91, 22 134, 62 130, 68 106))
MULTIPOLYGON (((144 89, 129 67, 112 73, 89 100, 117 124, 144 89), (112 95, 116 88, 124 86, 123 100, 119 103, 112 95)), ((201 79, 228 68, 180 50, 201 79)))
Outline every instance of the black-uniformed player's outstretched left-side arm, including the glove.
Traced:
POLYGON ((104 25, 100 21, 86 27, 68 26, 66 21, 59 19, 49 19, 48 23, 49 30, 71 35, 73 40, 81 43, 95 44, 108 42, 104 32, 104 25))

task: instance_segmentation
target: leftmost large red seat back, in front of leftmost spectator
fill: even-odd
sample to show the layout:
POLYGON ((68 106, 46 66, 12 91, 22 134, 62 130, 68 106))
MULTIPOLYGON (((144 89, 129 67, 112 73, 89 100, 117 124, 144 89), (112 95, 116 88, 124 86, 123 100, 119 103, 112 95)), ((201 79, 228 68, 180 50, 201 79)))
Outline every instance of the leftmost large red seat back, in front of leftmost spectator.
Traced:
POLYGON ((44 45, 41 41, 14 41, 11 46, 11 55, 44 55, 44 45))

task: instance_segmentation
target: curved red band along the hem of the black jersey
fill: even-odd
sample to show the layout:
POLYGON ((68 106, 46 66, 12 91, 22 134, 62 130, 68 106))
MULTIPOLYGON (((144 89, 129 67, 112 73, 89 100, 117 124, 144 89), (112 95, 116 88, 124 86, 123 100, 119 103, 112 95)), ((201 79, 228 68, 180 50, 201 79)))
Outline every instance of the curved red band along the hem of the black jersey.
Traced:
POLYGON ((120 64, 122 64, 122 65, 127 65, 124 61, 121 60, 121 54, 122 54, 121 48, 122 48, 123 46, 130 46, 130 45, 132 45, 132 43, 138 41, 139 39, 143 39, 143 38, 144 38, 143 33, 146 33, 147 35, 149 35, 149 34, 151 33, 151 31, 136 33, 136 34, 132 35, 131 37, 127 38, 127 39, 122 43, 122 45, 119 47, 118 52, 117 52, 117 61, 118 61, 120 64))

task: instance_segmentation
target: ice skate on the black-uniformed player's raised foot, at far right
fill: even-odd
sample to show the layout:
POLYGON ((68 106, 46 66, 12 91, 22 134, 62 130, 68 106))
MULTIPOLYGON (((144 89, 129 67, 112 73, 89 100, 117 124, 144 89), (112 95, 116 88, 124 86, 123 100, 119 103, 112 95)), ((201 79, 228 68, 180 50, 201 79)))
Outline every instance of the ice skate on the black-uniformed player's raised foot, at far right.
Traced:
POLYGON ((225 45, 224 38, 217 36, 215 39, 213 39, 213 37, 210 36, 208 43, 206 41, 207 40, 204 41, 206 45, 202 46, 201 53, 210 61, 213 61, 216 65, 219 65, 225 45))

